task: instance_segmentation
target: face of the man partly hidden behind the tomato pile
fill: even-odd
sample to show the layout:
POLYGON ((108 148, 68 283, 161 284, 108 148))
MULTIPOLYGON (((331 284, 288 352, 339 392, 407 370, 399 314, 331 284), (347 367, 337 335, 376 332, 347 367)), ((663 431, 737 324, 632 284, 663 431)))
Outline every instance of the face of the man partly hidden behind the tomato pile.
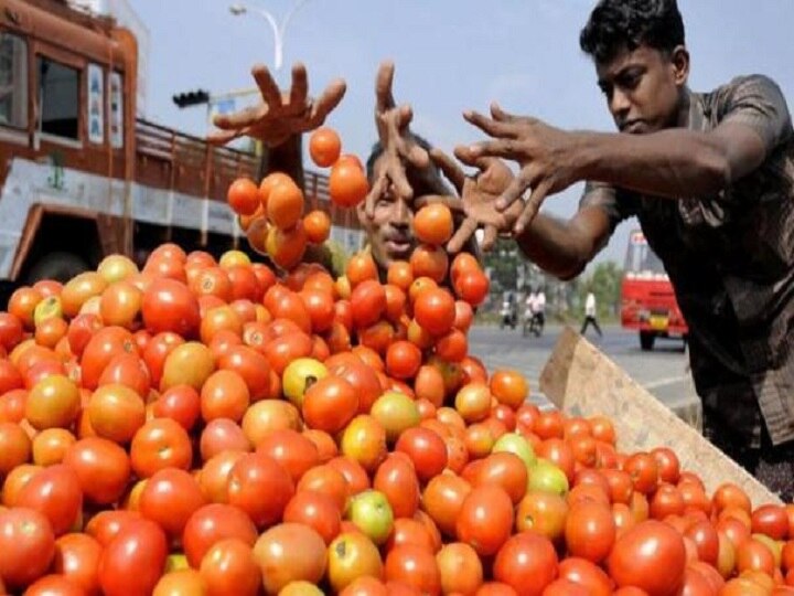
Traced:
MULTIPOLYGON (((377 178, 385 166, 385 158, 380 156, 373 168, 374 178, 377 178)), ((384 269, 393 260, 408 260, 416 246, 414 236, 414 213, 416 201, 426 194, 439 192, 437 184, 442 184, 437 172, 417 172, 412 168, 407 171, 408 182, 414 189, 414 198, 398 196, 394 187, 380 195, 375 202, 375 212, 372 219, 364 213, 364 205, 358 206, 358 220, 366 232, 372 255, 375 262, 384 269)))

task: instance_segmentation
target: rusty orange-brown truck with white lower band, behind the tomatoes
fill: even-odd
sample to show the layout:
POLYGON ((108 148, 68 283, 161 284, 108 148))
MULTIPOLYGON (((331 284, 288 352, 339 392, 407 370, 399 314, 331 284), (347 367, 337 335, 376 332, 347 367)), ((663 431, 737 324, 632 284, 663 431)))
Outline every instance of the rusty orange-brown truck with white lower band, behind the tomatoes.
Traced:
MULTIPOLYGON (((279 169, 278 152, 211 146, 141 117, 136 35, 114 18, 65 0, 0 6, 4 296, 66 280, 109 254, 142 265, 164 242, 216 256, 251 252, 226 191, 238 177, 279 169)), ((300 160, 300 138, 288 150, 300 160)), ((308 206, 360 233, 355 214, 330 202, 328 177, 301 173, 308 206)))

